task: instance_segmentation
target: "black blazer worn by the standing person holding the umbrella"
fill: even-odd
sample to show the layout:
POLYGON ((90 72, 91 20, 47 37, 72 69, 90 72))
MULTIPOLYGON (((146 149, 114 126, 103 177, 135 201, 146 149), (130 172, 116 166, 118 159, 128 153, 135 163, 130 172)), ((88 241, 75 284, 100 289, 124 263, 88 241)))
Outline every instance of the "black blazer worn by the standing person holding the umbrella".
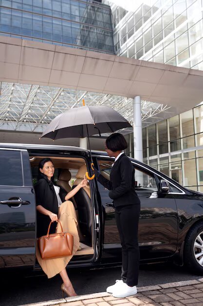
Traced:
POLYGON ((110 181, 101 174, 98 175, 98 181, 110 190, 109 197, 113 199, 114 207, 140 204, 139 197, 135 192, 134 173, 134 167, 128 156, 123 153, 111 169, 110 181))

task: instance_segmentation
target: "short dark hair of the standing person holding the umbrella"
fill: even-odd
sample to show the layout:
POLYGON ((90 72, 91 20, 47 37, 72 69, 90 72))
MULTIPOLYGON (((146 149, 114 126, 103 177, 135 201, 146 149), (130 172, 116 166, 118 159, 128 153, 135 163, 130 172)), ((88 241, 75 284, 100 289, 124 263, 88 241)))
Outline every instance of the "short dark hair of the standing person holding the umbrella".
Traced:
POLYGON ((112 152, 123 151, 128 148, 126 139, 120 133, 113 133, 107 137, 106 146, 112 152))

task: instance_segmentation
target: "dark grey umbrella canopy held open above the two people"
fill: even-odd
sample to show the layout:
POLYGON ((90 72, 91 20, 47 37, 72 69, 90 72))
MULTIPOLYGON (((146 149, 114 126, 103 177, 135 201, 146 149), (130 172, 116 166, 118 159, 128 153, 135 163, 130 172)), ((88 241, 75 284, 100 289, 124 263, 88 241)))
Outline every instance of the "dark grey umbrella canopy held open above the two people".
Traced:
POLYGON ((108 106, 82 106, 58 115, 41 137, 51 139, 88 137, 129 128, 129 122, 108 106))

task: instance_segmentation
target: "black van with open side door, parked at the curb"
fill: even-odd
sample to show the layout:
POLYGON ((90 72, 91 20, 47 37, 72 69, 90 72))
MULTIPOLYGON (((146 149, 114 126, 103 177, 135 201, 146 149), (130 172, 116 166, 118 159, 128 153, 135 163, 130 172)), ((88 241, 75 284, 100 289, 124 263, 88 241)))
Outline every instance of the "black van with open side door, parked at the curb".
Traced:
MULTIPOLYGON (((67 146, 0 144, 0 268, 39 269, 35 257, 34 185, 39 160, 50 157, 55 183, 69 192, 90 169, 90 153, 67 146)), ((92 152, 95 167, 109 179, 114 159, 92 152)), ((174 260, 203 273, 203 194, 133 158, 135 190, 141 200, 141 262, 174 260)), ((81 250, 70 266, 121 263, 121 245, 109 192, 96 179, 72 198, 81 250)))

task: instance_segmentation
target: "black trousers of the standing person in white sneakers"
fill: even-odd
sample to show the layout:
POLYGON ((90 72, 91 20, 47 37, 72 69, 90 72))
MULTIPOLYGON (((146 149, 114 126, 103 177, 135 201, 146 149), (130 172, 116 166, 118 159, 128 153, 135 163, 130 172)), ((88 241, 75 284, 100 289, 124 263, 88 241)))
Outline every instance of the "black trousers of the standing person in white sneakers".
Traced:
POLYGON ((122 245, 122 280, 129 286, 138 283, 140 251, 138 246, 138 221, 140 204, 115 208, 115 220, 122 245))

